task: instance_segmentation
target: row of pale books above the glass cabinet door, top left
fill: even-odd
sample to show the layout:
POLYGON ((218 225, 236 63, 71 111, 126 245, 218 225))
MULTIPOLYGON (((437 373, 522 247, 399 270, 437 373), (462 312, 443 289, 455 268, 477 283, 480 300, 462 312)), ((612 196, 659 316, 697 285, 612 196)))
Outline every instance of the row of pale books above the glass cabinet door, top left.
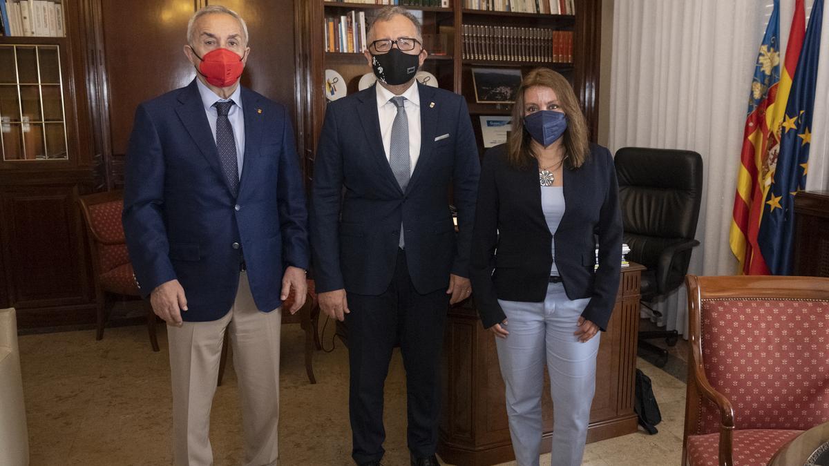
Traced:
POLYGON ((0 35, 62 37, 63 5, 57 0, 0 0, 0 35))

